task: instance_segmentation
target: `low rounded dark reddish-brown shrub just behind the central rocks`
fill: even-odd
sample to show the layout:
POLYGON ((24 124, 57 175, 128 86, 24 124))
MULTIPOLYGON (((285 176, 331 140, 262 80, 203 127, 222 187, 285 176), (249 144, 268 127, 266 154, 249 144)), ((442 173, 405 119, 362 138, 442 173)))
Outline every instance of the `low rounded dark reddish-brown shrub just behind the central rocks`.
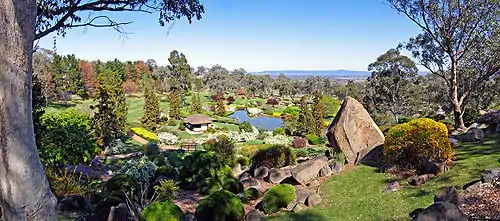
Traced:
POLYGON ((275 145, 260 149, 252 157, 252 167, 266 166, 268 168, 281 168, 294 165, 295 154, 290 147, 275 145))

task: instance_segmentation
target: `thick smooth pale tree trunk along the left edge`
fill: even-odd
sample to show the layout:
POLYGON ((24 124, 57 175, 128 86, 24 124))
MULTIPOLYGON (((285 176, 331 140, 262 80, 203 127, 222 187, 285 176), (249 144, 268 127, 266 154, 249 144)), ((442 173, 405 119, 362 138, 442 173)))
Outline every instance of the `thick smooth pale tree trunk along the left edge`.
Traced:
POLYGON ((0 206, 3 220, 57 220, 31 113, 35 0, 0 1, 0 206))

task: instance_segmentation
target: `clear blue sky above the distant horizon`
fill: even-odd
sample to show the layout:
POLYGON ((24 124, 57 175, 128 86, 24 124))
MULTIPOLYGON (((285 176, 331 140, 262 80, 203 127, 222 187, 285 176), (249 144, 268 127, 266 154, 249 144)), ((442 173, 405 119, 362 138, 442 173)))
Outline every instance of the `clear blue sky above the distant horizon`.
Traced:
MULTIPOLYGON (((228 69, 366 70, 377 56, 420 30, 384 0, 202 0, 200 21, 177 21, 170 32, 157 14, 107 14, 134 21, 124 38, 109 28, 76 28, 56 37, 60 54, 88 60, 147 60, 168 64, 170 51, 191 66, 228 69)), ((53 49, 54 36, 39 46, 53 49)))

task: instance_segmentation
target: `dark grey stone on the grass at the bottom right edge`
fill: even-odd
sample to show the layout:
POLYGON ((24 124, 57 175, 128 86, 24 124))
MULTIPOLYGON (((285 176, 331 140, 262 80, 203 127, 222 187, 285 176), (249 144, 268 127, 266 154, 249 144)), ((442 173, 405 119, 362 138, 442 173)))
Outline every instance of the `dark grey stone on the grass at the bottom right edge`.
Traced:
POLYGON ((416 221, 467 221, 458 206, 449 202, 438 202, 418 214, 416 221))

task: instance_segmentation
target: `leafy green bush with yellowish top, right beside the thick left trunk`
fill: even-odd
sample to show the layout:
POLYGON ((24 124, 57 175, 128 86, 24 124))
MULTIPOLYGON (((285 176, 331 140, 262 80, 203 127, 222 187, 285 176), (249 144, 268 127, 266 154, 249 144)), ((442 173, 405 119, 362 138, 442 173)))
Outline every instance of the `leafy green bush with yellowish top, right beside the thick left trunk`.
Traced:
POLYGON ((45 165, 89 163, 100 151, 92 137, 92 120, 74 109, 45 114, 41 126, 38 154, 45 165))

